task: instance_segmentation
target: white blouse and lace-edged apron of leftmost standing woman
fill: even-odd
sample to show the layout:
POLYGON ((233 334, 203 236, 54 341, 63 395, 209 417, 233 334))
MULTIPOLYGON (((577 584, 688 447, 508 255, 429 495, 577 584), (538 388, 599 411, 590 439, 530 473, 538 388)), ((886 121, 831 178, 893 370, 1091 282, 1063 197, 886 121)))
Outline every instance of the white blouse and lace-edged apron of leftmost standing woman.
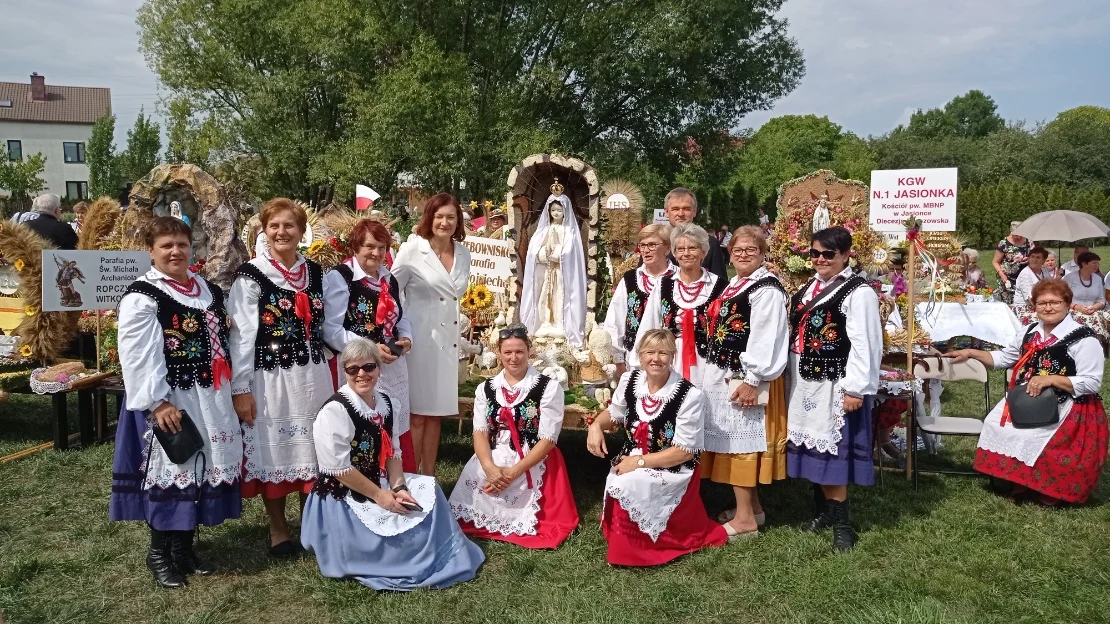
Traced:
MULTIPOLYGON (((192 276, 192 275, 190 275, 192 276)), ((168 275, 158 269, 147 271, 140 281, 150 282, 160 291, 182 305, 196 310, 196 320, 205 319, 204 311, 212 304, 212 293, 206 282, 196 280, 200 294, 186 296, 170 288, 164 280, 168 275)), ((120 300, 119 306, 119 353, 123 369, 123 384, 127 386, 127 407, 134 411, 150 411, 169 401, 178 410, 189 413, 204 436, 205 469, 203 481, 215 486, 234 483, 240 475, 243 461, 243 437, 239 430, 239 417, 231 402, 231 383, 223 381, 220 389, 215 384, 190 389, 170 388, 167 382, 167 363, 163 346, 168 340, 158 322, 158 302, 141 293, 130 293, 120 300)), ((211 325, 210 325, 211 326, 211 325)), ((210 330, 210 340, 219 349, 219 338, 210 330)), ((145 442, 151 439, 145 433, 145 442)), ((147 449, 143 449, 145 453, 147 449)), ((190 460, 185 464, 174 464, 154 444, 151 450, 150 470, 143 483, 150 487, 188 487, 200 483, 190 460)))

